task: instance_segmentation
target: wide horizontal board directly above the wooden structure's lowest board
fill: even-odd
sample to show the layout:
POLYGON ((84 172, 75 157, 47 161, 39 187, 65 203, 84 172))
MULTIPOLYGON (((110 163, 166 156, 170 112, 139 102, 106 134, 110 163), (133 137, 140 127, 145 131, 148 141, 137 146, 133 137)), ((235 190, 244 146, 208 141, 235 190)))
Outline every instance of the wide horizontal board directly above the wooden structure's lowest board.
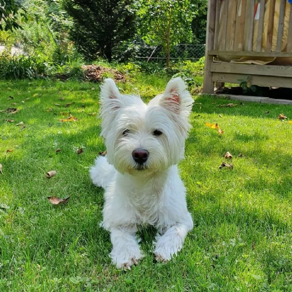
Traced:
MULTIPOLYGON (((213 63, 211 72, 292 77, 292 66, 213 63)), ((292 80, 291 80, 292 81, 292 80)))

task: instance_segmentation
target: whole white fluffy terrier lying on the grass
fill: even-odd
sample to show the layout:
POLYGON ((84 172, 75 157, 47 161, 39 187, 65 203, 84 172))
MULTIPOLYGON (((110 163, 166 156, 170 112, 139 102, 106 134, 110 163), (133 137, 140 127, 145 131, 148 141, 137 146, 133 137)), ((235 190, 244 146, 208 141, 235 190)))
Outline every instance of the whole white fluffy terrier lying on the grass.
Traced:
POLYGON ((147 224, 158 229, 156 259, 169 261, 193 228, 177 166, 193 99, 181 78, 170 80, 148 105, 139 96, 122 95, 108 78, 100 100, 107 156, 96 158, 90 176, 105 188, 102 226, 110 231, 112 262, 127 269, 137 264, 143 254, 136 232, 147 224))

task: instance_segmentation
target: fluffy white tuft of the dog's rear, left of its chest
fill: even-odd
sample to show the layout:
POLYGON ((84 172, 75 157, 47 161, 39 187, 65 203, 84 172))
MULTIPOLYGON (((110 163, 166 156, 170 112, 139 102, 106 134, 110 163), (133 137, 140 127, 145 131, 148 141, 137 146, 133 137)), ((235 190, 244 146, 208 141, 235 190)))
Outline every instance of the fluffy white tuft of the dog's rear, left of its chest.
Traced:
POLYGON ((114 179, 116 170, 108 163, 105 156, 98 156, 95 159, 95 164, 91 166, 89 173, 92 183, 107 188, 110 182, 114 179))

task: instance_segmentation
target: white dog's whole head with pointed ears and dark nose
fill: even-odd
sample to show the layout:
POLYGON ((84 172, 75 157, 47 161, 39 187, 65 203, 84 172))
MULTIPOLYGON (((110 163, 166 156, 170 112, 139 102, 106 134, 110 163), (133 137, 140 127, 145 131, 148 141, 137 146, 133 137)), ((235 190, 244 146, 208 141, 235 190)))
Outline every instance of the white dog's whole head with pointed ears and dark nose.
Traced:
POLYGON ((156 172, 177 164, 184 154, 193 99, 181 78, 146 105, 122 95, 112 79, 101 87, 101 135, 107 159, 121 173, 156 172))

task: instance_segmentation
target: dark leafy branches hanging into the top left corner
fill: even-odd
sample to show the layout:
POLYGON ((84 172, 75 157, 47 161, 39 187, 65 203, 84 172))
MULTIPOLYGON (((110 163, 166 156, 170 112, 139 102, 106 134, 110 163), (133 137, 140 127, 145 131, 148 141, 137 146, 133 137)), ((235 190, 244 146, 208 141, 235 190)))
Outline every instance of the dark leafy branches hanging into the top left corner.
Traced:
POLYGON ((21 28, 20 17, 27 19, 26 10, 17 0, 0 0, 0 31, 21 28))

